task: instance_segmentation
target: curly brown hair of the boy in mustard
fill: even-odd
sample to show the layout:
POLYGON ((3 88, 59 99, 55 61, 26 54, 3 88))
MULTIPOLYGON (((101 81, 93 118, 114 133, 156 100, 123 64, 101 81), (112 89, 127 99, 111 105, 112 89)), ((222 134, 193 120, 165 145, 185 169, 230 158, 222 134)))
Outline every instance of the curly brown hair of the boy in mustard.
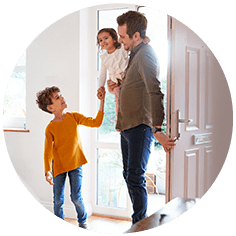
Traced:
POLYGON ((47 87, 36 94, 36 97, 37 97, 36 103, 38 104, 40 109, 52 114, 52 112, 50 112, 47 109, 47 106, 52 104, 51 97, 52 97, 52 94, 55 92, 60 92, 60 89, 56 86, 53 86, 53 87, 47 87))

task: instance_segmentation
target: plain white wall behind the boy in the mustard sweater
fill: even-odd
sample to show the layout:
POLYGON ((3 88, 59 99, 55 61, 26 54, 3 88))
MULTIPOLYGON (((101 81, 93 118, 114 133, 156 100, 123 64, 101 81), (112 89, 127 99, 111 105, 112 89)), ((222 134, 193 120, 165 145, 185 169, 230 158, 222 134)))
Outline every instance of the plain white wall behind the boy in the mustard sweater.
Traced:
MULTIPOLYGON (((4 132, 8 155, 18 177, 29 193, 50 211, 53 206, 52 187, 44 177, 43 147, 44 130, 53 116, 38 109, 36 93, 46 86, 56 85, 67 101, 67 111, 95 115, 90 113, 90 94, 84 87, 89 86, 91 81, 88 73, 88 30, 83 32, 83 38, 88 41, 79 41, 82 23, 80 14, 88 18, 88 11, 89 9, 83 9, 62 17, 44 29, 27 47, 27 129, 30 133, 4 132), (85 59, 81 64, 80 45, 83 46, 85 59), (83 76, 83 88, 80 87, 80 76, 83 76)), ((88 129, 81 132, 84 151, 90 160, 90 135, 88 129)), ((66 188, 65 213, 67 217, 76 218, 68 183, 66 188)), ((90 164, 84 166, 83 197, 87 211, 91 214, 90 164)))

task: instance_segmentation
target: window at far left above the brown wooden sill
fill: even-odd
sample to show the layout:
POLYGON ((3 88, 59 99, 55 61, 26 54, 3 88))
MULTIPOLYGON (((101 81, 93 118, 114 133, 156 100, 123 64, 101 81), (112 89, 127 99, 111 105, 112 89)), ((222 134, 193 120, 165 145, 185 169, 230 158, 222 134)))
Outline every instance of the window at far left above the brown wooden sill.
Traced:
POLYGON ((8 81, 3 104, 3 128, 26 129, 26 51, 8 81))

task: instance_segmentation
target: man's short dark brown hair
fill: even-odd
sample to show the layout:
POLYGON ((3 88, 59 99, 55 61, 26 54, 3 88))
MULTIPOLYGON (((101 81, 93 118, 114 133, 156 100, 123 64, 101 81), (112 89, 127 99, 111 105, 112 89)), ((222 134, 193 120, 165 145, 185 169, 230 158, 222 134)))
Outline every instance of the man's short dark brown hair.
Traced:
POLYGON ((143 14, 137 11, 128 11, 118 16, 116 20, 119 26, 127 24, 126 33, 130 38, 132 38, 136 32, 139 32, 142 39, 146 37, 147 19, 143 14))

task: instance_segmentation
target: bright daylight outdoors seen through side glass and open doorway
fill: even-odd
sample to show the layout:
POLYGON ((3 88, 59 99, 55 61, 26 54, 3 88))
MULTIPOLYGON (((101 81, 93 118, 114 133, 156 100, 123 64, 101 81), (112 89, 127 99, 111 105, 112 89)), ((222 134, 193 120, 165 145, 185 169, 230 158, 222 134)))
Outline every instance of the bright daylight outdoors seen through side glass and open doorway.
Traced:
MULTIPOLYGON (((98 11, 98 30, 102 28, 114 28, 117 30, 117 16, 126 12, 127 9, 101 10, 98 11)), ((162 92, 166 94, 167 81, 167 15, 148 7, 139 8, 148 19, 147 36, 150 38, 151 46, 154 48, 161 67, 160 81, 162 92)), ((100 70, 98 55, 97 70, 100 70)), ((107 91, 107 88, 106 88, 107 91)), ((166 96, 164 100, 166 110, 166 96)), ((115 130, 116 115, 114 95, 106 93, 104 122, 98 130, 98 143, 111 144, 112 149, 97 149, 97 205, 105 207, 126 208, 127 187, 122 176, 122 156, 120 151, 120 134, 115 130)), ((165 112, 166 113, 166 112, 165 112)), ((164 121, 165 123, 166 121, 164 121)), ((110 147, 111 145, 109 145, 110 147)), ((166 176, 166 154, 157 140, 154 140, 149 165, 146 172, 147 190, 149 193, 149 206, 165 204, 165 176, 166 176), (158 197, 158 199, 157 199, 158 197), (155 204, 151 204, 155 201, 155 204)), ((149 207, 149 210, 151 211, 149 207)), ((159 207, 158 207, 159 209, 159 207)), ((153 209, 153 211, 156 210, 153 209)))

